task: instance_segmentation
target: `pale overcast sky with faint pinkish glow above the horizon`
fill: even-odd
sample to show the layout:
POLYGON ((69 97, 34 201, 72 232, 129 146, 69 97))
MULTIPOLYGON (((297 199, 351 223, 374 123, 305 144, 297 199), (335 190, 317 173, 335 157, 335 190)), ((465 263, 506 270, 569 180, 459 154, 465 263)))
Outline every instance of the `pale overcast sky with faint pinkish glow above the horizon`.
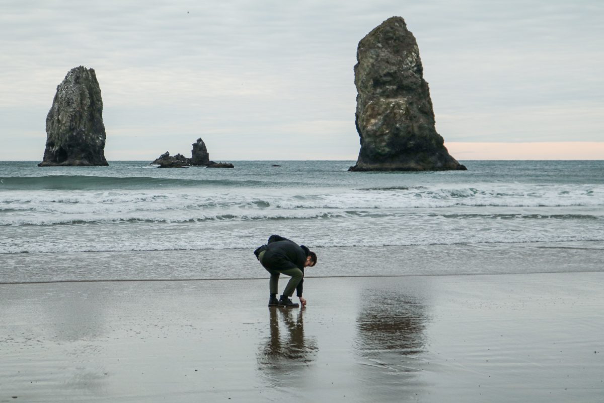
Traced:
POLYGON ((190 156, 198 137, 213 160, 356 160, 356 47, 395 15, 455 158, 506 143, 540 159, 547 142, 604 159, 602 0, 0 0, 0 160, 42 160, 79 65, 97 74, 108 160, 190 156))

